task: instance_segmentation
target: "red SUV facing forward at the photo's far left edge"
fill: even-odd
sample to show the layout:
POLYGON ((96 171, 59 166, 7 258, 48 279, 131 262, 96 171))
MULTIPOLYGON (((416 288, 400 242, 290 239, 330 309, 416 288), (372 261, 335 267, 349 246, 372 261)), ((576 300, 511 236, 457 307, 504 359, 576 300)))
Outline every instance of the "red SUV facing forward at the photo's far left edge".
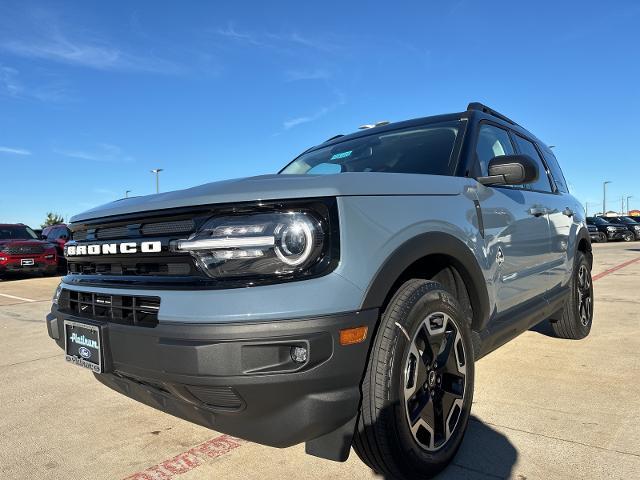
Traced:
POLYGON ((56 247, 40 240, 23 224, 0 224, 0 276, 7 273, 44 273, 58 271, 56 247))

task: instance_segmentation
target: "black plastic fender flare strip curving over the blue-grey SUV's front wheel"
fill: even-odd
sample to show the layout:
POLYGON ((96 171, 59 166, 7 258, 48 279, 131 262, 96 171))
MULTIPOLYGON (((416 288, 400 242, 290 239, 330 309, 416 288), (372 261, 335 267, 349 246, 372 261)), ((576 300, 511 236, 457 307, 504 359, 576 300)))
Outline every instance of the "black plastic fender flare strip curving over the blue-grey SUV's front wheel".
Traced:
POLYGON ((423 233, 400 245, 369 284, 362 309, 380 308, 402 273, 413 263, 429 255, 451 258, 469 291, 474 312, 473 329, 481 331, 491 313, 487 281, 471 249, 455 236, 443 232, 423 233))

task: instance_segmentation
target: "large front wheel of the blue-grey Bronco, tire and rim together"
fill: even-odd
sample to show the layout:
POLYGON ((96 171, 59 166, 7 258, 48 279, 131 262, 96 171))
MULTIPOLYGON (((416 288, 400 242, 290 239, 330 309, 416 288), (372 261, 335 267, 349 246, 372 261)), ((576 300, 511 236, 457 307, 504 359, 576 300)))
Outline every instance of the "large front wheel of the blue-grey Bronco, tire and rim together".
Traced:
POLYGON ((404 283, 382 315, 354 450, 385 478, 430 478, 460 447, 473 400, 470 323, 439 283, 421 279, 404 283))

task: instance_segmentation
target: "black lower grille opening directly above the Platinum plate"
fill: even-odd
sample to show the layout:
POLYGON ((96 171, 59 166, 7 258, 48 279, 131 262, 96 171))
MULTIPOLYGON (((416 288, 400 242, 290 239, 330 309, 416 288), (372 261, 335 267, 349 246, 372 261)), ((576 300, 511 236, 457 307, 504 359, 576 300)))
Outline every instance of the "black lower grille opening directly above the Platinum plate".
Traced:
POLYGON ((155 327, 158 324, 160 297, 104 295, 63 289, 58 299, 58 309, 76 317, 155 327))

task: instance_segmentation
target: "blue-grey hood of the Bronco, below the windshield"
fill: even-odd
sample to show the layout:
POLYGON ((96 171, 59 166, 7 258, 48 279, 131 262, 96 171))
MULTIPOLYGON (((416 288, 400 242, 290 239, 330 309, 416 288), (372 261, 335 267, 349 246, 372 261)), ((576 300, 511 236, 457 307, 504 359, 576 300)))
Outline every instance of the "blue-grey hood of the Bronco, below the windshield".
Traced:
POLYGON ((357 195, 456 195, 469 179, 435 175, 350 172, 335 175, 262 175, 224 180, 173 192, 123 198, 71 221, 167 208, 293 198, 357 195))

